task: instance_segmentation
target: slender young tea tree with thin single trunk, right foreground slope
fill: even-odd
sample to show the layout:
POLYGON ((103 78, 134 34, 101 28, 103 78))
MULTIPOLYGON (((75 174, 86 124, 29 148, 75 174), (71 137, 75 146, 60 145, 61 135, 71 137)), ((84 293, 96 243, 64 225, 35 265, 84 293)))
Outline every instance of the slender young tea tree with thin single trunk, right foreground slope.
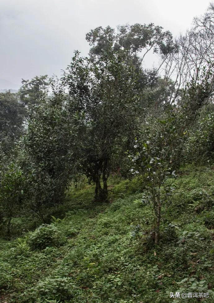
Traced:
MULTIPOLYGON (((172 115, 174 114, 172 113, 172 115)), ((172 137, 176 135, 173 121, 173 116, 168 116, 165 120, 156 120, 155 131, 153 126, 146 126, 143 129, 143 138, 146 138, 146 140, 136 139, 134 146, 136 154, 129 155, 133 165, 131 171, 133 174, 142 176, 148 202, 154 211, 156 244, 159 241, 163 203, 168 207, 172 202, 175 191, 173 178, 175 179, 176 174, 171 167, 174 149, 170 144, 172 137), (166 182, 169 177, 171 179, 166 182)))

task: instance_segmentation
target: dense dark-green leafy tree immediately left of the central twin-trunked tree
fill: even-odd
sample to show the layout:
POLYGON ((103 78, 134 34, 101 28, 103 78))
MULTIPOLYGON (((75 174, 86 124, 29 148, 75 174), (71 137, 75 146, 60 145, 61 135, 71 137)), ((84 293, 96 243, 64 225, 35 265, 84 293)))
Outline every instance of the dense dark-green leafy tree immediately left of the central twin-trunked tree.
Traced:
POLYGON ((76 173, 76 120, 60 97, 43 100, 30 113, 28 132, 20 146, 29 156, 26 171, 35 212, 41 214, 40 207, 63 201, 65 190, 76 173))

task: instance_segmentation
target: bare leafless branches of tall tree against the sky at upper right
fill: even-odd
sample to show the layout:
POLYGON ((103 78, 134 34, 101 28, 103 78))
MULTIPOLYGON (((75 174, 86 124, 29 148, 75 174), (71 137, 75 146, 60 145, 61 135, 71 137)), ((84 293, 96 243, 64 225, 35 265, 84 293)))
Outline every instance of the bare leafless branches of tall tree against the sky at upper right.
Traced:
MULTIPOLYGON (((214 58, 214 6, 194 19, 194 25, 185 34, 175 39, 176 48, 164 62, 164 77, 174 80, 174 89, 169 103, 177 101, 178 94, 185 85, 199 76, 203 66, 208 66, 214 58)), ((214 85, 214 76, 211 79, 214 85)), ((212 94, 210 95, 212 97, 212 94)), ((209 97, 209 98, 210 98, 209 97)))

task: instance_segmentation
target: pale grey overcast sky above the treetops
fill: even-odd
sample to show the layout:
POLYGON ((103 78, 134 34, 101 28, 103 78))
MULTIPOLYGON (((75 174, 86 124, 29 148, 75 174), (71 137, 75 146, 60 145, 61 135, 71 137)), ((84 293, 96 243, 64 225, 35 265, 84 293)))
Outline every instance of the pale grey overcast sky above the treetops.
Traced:
MULTIPOLYGON (((21 78, 60 75, 74 50, 87 55, 85 34, 97 26, 153 22, 174 36, 209 0, 0 0, 0 89, 21 78)), ((146 65, 153 65, 149 57, 146 65)))

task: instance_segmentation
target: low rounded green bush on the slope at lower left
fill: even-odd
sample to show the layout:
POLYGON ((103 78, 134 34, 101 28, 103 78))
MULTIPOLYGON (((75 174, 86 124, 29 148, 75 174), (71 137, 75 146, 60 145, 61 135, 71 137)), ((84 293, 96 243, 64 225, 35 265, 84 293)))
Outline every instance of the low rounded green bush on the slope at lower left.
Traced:
POLYGON ((53 224, 42 224, 28 237, 28 244, 32 249, 44 249, 47 246, 61 246, 65 241, 65 236, 62 236, 53 224))

